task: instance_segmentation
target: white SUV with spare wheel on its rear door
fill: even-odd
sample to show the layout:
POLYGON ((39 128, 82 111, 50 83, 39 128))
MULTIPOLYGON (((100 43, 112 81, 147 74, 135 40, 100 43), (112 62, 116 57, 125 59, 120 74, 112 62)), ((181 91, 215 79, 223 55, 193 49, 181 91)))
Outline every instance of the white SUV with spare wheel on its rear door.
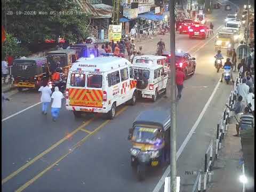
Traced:
POLYGON ((168 75, 162 65, 136 63, 133 71, 137 79, 138 95, 142 98, 150 98, 155 102, 157 96, 166 91, 168 75))

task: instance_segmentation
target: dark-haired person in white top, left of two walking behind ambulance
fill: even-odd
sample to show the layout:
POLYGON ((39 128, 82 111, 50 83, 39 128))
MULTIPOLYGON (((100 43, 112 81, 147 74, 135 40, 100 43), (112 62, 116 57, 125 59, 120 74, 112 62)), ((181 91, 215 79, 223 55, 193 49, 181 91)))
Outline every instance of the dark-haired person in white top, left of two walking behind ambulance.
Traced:
POLYGON ((39 92, 41 92, 41 102, 42 102, 42 114, 46 115, 47 114, 47 108, 51 103, 51 94, 52 90, 48 86, 48 82, 46 79, 43 80, 43 86, 39 88, 39 92))

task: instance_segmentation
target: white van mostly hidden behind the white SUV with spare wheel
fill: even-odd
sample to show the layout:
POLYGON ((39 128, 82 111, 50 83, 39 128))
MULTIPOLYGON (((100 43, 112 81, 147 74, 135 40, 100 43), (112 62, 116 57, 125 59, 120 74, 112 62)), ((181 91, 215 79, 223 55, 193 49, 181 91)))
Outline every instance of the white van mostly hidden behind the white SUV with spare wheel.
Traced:
POLYGON ((164 71, 170 70, 170 64, 165 56, 161 55, 140 55, 133 58, 133 65, 137 64, 154 64, 154 65, 162 65, 164 67, 164 71))

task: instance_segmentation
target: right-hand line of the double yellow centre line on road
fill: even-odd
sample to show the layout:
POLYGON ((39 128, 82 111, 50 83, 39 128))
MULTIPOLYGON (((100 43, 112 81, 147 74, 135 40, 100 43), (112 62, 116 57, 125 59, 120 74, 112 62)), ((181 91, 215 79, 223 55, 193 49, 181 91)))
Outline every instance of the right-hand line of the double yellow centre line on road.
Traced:
MULTIPOLYGON (((119 116, 120 114, 122 114, 126 109, 128 108, 128 106, 123 107, 121 110, 119 110, 116 113, 116 117, 119 116)), ((39 179, 40 177, 42 177, 43 174, 45 174, 47 171, 51 170, 52 167, 55 166, 55 164, 58 164, 60 161, 62 161, 62 159, 64 159, 65 157, 67 157, 69 154, 71 154, 76 148, 78 148, 79 146, 81 146, 89 137, 91 137, 93 134, 97 133, 99 130, 102 129, 102 127, 104 127, 106 124, 108 124, 111 120, 106 120, 105 122, 103 122, 102 124, 100 124, 94 131, 92 131, 90 134, 86 135, 83 139, 81 139, 80 141, 78 141, 76 143, 76 145, 74 145, 73 147, 71 147, 71 149, 69 149, 68 153, 65 155, 62 155, 56 162, 54 162, 53 164, 51 164, 49 167, 47 167, 45 170, 43 170, 42 172, 40 172, 39 174, 37 174, 34 178, 30 179, 28 182, 26 182, 24 185, 22 185, 20 188, 18 188, 17 190, 15 190, 15 192, 21 192, 24 189, 26 189, 28 186, 30 186, 33 182, 35 182, 37 179, 39 179)), ((83 128, 80 128, 79 130, 82 131, 83 128)))

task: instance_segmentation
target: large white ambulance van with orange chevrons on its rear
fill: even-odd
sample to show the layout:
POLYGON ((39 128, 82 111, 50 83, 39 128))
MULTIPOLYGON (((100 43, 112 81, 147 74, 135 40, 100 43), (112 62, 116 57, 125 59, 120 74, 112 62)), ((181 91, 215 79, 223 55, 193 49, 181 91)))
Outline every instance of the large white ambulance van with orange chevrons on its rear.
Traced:
POLYGON ((110 119, 116 107, 137 100, 132 64, 118 57, 98 57, 78 60, 69 69, 66 108, 75 117, 83 112, 107 113, 110 119))

